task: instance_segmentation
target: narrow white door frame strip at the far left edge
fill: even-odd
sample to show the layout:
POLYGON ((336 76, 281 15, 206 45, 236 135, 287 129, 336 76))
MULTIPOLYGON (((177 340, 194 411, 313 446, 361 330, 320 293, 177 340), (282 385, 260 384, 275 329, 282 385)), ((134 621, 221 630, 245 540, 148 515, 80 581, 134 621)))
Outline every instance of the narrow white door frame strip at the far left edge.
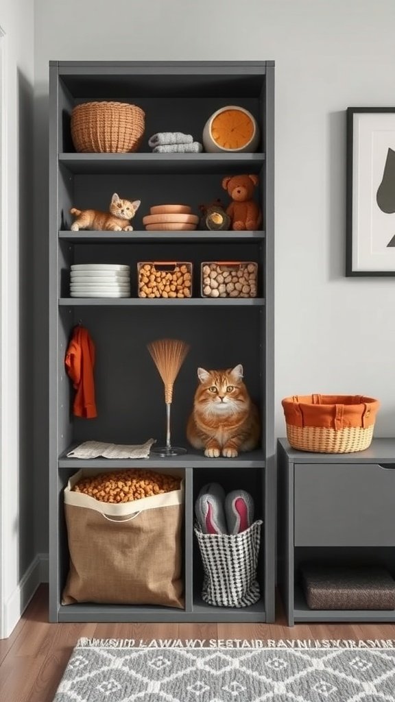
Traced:
POLYGON ((7 437, 4 432, 6 414, 6 389, 4 383, 4 329, 6 322, 6 291, 4 287, 4 267, 6 266, 7 232, 7 140, 6 140, 6 34, 0 27, 0 639, 6 633, 5 621, 5 573, 6 573, 6 457, 7 437))

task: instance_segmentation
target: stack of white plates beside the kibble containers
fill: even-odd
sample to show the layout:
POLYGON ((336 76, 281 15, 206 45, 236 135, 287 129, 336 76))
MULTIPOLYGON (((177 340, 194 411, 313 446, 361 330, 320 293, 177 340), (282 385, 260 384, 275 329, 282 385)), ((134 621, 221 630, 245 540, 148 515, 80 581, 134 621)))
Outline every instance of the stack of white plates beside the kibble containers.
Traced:
POLYGON ((70 297, 129 298, 130 266, 118 263, 77 263, 72 265, 70 297))

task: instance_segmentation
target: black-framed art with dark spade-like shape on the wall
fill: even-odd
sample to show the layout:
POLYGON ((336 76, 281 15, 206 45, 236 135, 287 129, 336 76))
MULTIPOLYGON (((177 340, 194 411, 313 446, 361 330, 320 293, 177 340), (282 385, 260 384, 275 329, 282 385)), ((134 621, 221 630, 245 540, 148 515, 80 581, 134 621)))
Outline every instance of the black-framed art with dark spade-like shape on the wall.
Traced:
POLYGON ((395 275, 395 107, 347 108, 347 276, 395 275))

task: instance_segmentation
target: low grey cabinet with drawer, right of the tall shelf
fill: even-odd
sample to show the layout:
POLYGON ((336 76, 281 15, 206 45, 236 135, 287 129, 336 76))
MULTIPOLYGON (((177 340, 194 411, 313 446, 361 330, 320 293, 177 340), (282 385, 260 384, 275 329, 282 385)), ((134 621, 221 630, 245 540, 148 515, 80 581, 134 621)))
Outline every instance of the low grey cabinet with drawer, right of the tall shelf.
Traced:
POLYGON ((304 563, 382 565, 395 576, 395 439, 357 453, 297 451, 278 441, 280 590, 288 623, 395 621, 395 611, 311 610, 304 563))

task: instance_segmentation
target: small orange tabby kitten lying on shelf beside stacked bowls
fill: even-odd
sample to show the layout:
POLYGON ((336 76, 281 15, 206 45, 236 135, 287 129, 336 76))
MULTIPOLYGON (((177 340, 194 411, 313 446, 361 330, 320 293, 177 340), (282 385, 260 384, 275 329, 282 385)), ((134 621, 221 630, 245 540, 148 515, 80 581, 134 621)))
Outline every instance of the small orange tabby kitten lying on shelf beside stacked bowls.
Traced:
POLYGON ((129 224, 140 205, 140 200, 122 200, 115 192, 112 195, 109 212, 100 210, 77 210, 72 207, 70 212, 77 219, 71 225, 72 232, 80 229, 91 229, 96 232, 133 232, 129 224))

